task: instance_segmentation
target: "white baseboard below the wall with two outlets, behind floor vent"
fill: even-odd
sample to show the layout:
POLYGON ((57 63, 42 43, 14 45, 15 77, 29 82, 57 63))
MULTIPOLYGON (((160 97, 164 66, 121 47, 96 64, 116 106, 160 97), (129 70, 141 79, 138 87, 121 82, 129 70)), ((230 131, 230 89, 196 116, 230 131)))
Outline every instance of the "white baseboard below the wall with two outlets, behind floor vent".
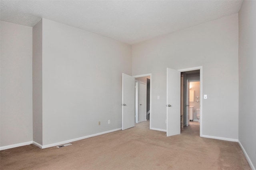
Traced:
MULTIPOLYGON (((88 135, 88 136, 83 136, 83 137, 80 137, 80 138, 74 138, 74 139, 70 139, 70 140, 65 140, 65 141, 57 142, 57 143, 53 143, 53 144, 41 145, 41 146, 42 146, 42 149, 44 149, 44 148, 50 148, 50 147, 53 147, 53 146, 58 146, 58 145, 62 145, 62 144, 74 142, 74 141, 77 141, 77 140, 82 140, 82 139, 86 139, 86 138, 91 138, 91 137, 94 137, 94 136, 99 136, 99 135, 102 135, 102 134, 106 134, 106 133, 110 133, 110 132, 115 132, 115 131, 118 131, 118 130, 122 130, 122 128, 118 128, 118 129, 114 129, 114 130, 109 130, 109 131, 105 131, 105 132, 100 132, 100 133, 92 134, 92 135, 88 135)), ((39 144, 39 145, 40 145, 40 144, 39 144)), ((39 147, 40 147, 40 146, 39 146, 39 147)), ((41 148, 41 147, 40 147, 40 148, 41 148)))

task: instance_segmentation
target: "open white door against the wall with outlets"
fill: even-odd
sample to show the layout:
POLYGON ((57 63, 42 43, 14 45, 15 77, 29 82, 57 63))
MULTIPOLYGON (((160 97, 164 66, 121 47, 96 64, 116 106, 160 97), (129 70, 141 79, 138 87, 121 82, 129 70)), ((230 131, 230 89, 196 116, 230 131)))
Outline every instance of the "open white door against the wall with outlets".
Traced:
POLYGON ((122 130, 135 124, 135 79, 122 74, 122 130))

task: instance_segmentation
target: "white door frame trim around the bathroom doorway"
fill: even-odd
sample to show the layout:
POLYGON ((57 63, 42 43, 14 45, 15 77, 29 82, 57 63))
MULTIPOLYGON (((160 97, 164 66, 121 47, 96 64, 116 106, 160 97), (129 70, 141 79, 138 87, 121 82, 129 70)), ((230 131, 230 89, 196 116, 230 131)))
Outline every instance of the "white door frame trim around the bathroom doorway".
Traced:
MULTIPOLYGON (((193 70, 200 70, 200 136, 202 136, 203 131, 203 66, 192 67, 192 68, 185 68, 180 69, 180 72, 187 72, 193 70)), ((151 87, 151 86, 150 86, 151 87)), ((151 105, 150 105, 151 106, 151 105)))

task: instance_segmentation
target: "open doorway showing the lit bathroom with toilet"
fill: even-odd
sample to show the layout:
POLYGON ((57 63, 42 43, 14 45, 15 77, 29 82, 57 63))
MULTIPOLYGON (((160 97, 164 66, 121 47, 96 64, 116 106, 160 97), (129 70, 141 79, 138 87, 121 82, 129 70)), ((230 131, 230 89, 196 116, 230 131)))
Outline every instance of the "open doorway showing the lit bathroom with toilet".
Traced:
MULTIPOLYGON (((200 126, 200 87, 200 70, 181 72, 180 110, 183 127, 190 125, 200 126)), ((183 127, 181 127, 181 130, 186 130, 183 127)))

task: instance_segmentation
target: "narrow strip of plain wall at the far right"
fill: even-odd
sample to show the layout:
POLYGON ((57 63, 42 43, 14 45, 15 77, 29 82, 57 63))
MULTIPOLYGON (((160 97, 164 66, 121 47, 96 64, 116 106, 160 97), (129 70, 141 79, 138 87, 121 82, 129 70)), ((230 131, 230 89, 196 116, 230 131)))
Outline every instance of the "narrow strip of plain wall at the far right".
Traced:
POLYGON ((239 11, 239 141, 256 168, 256 1, 239 11))

